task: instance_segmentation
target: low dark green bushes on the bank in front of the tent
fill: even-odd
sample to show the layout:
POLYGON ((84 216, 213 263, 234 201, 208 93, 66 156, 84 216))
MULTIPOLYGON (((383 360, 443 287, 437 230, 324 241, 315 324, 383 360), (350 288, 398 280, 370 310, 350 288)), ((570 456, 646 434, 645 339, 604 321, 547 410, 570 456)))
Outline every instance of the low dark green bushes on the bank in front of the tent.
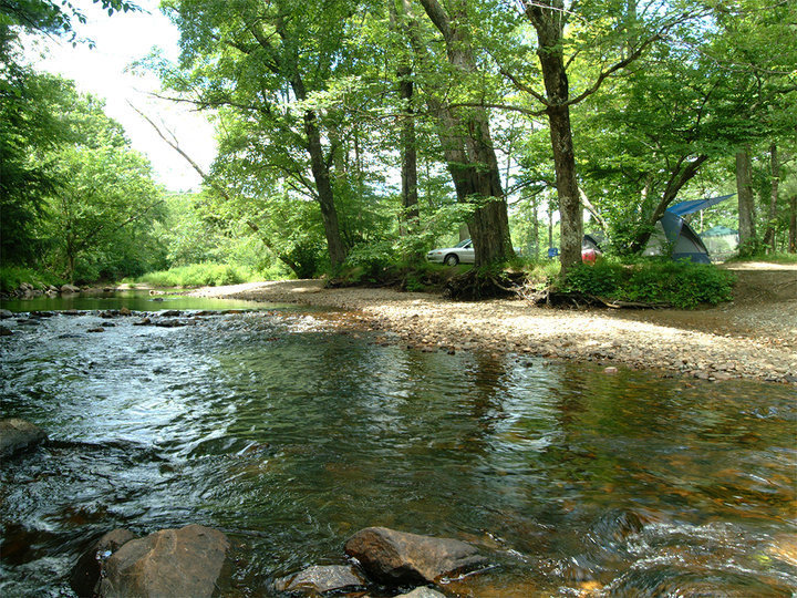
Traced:
POLYGON ((634 265, 602 260, 577 266, 567 274, 561 290, 614 301, 635 301, 694 308, 732 298, 733 275, 715 266, 690 261, 655 260, 634 265))

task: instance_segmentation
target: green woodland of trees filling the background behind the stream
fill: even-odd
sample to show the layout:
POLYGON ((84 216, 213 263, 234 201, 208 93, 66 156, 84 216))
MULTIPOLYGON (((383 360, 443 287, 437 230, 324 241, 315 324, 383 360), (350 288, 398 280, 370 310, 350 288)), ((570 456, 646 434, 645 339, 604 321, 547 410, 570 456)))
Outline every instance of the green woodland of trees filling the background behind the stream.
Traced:
MULTIPOLYGON (((124 19, 138 10, 96 0, 124 19)), ((168 0, 162 95, 207 113, 218 155, 168 193, 103 101, 37 72, 25 34, 80 10, 0 1, 0 249, 22 280, 186 283, 422 264, 580 262, 584 230, 635 259, 675 200, 742 255, 797 252, 797 7, 786 0, 168 0), (587 214, 584 223, 584 214, 587 214), (157 277, 152 278, 156 280, 157 277)))

